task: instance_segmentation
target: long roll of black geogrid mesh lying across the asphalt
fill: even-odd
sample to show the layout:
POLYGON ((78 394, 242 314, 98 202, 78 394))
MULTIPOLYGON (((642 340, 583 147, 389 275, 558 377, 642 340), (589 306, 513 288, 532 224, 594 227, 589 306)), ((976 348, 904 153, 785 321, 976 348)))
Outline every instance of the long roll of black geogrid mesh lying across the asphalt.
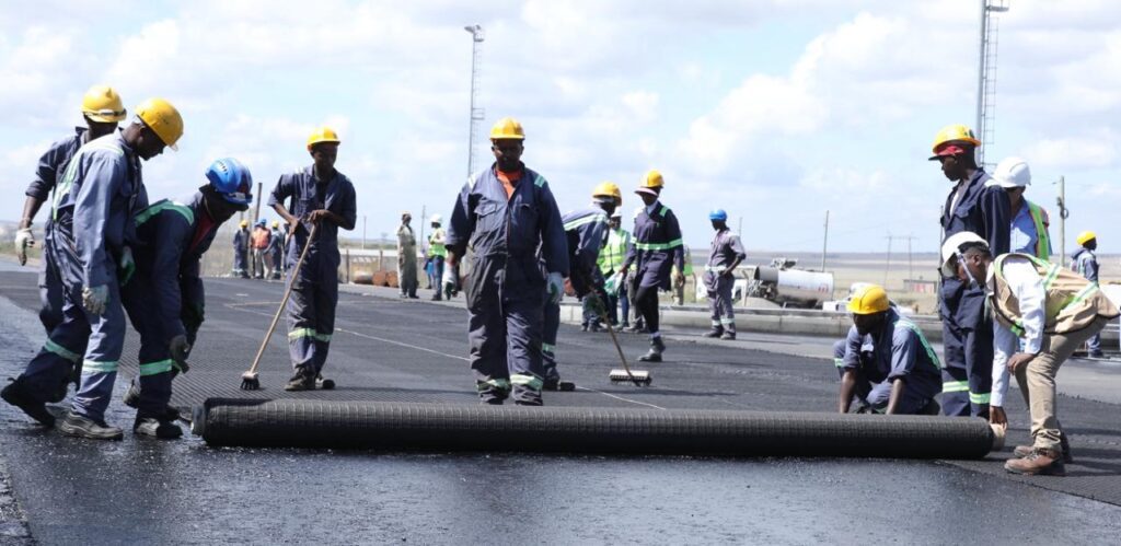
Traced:
POLYGON ((911 459, 980 459, 1003 439, 963 417, 221 398, 192 429, 215 446, 911 459))

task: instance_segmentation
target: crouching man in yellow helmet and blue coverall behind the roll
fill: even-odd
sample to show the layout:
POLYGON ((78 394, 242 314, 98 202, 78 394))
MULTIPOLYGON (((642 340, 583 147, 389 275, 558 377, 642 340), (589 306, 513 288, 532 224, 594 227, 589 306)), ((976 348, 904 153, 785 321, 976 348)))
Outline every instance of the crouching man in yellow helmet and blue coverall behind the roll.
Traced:
POLYGON ((833 345, 841 372, 837 410, 938 415, 934 397, 942 391, 938 357, 923 331, 899 314, 882 287, 867 285, 849 299, 852 327, 833 345))

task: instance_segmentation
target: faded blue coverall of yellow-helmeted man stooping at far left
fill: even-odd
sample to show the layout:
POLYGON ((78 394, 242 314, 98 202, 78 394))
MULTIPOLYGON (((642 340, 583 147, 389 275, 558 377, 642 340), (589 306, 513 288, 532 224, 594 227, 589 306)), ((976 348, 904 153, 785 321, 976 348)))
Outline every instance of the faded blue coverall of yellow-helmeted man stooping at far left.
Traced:
POLYGON ((63 322, 20 377, 33 399, 58 401, 58 385, 81 361, 81 385, 72 411, 95 422, 103 419, 109 407, 124 343, 117 269, 122 249, 136 241, 132 216, 148 205, 140 167, 121 132, 86 144, 71 160, 54 206, 63 322), (109 298, 104 313, 94 315, 83 307, 82 290, 100 286, 108 287, 109 298), (86 340, 83 355, 78 349, 86 340))

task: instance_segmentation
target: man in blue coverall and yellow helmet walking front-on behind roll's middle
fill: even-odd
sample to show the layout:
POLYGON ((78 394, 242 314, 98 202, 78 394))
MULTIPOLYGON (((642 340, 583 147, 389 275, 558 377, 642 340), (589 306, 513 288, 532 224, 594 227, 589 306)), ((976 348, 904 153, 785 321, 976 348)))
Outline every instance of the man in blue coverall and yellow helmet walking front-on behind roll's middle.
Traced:
POLYGON ((503 118, 490 137, 494 164, 472 175, 455 201, 446 266, 455 271, 470 247, 467 340, 482 404, 500 405, 512 394, 517 405, 540 406, 543 299, 560 300, 568 244, 548 183, 521 163, 521 123, 503 118))

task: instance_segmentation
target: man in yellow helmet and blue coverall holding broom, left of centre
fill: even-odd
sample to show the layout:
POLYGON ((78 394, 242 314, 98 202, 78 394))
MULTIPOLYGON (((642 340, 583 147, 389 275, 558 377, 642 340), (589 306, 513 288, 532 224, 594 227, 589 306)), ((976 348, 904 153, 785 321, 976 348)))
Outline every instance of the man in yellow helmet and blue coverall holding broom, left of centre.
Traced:
MULTIPOLYGON (((339 135, 326 127, 307 138, 314 164, 282 175, 272 188, 269 205, 288 222, 288 266, 295 268, 309 244, 299 274, 291 279, 288 298, 288 350, 295 373, 286 390, 311 390, 323 373, 335 331, 339 304, 339 228, 353 230, 358 216, 354 185, 335 169, 339 135), (291 197, 289 206, 285 200, 291 197), (312 224, 318 225, 308 241, 312 224)), ((293 269, 294 270, 294 269, 293 269)), ((289 271, 291 275, 291 270, 289 271)))

